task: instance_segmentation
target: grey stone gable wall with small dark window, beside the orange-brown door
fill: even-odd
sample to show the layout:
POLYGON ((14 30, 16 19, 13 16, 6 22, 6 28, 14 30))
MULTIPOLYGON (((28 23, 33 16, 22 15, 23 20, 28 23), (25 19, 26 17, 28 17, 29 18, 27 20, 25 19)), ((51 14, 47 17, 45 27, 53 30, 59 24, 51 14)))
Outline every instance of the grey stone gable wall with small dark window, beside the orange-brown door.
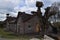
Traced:
POLYGON ((25 22, 24 31, 25 33, 36 33, 36 25, 39 23, 37 16, 31 18, 25 22))

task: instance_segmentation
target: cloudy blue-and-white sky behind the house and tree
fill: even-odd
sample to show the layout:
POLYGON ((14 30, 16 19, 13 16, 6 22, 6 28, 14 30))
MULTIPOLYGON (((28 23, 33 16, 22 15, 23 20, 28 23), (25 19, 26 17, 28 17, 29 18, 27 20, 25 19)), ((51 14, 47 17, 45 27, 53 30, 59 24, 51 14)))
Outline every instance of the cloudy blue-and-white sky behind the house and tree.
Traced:
POLYGON ((9 13, 10 16, 17 17, 17 12, 26 12, 30 14, 31 11, 36 11, 35 6, 36 1, 42 1, 44 6, 41 11, 44 13, 44 8, 51 6, 54 2, 59 2, 60 0, 0 0, 0 21, 6 19, 6 14, 9 13))

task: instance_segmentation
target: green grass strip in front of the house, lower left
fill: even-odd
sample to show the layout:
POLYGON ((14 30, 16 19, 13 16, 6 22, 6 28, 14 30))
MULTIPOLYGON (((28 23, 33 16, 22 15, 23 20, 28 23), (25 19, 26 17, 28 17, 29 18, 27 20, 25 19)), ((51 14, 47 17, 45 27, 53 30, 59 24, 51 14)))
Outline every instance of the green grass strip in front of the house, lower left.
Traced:
POLYGON ((0 37, 1 38, 8 38, 8 39, 31 39, 33 36, 28 36, 28 35, 14 35, 10 32, 4 31, 2 28, 0 28, 0 37))

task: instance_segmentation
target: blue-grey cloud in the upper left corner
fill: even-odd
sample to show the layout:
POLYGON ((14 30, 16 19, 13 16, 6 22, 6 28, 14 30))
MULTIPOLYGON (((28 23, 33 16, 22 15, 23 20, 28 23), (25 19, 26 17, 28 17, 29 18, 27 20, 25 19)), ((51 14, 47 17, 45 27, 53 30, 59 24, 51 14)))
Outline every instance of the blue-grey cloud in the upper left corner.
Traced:
POLYGON ((17 6, 19 0, 0 0, 0 10, 13 11, 14 7, 17 6))

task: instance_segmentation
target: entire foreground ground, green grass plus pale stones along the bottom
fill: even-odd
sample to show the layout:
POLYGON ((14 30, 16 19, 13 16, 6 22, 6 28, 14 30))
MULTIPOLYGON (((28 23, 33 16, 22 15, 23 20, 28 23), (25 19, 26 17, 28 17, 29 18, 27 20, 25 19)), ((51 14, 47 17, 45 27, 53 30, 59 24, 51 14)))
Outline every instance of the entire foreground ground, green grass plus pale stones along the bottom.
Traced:
MULTIPOLYGON (((3 29, 0 28, 0 40, 54 40, 52 38, 49 38, 46 36, 44 39, 36 38, 36 35, 14 35, 10 32, 6 32, 3 29)), ((58 39, 60 39, 60 36, 57 36, 58 39)))

